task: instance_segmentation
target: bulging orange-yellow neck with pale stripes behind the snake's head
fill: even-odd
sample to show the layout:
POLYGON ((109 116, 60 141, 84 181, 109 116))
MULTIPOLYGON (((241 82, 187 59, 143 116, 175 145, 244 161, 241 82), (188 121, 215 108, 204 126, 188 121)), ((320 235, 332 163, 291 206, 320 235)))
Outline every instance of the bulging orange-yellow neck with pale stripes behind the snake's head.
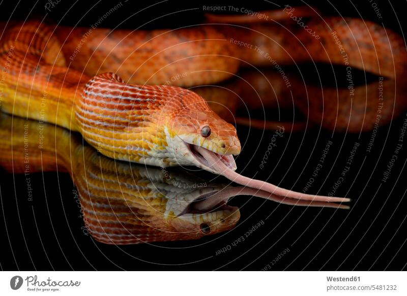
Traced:
POLYGON ((77 102, 76 123, 83 138, 106 156, 167 167, 173 89, 129 85, 113 73, 95 76, 77 102))

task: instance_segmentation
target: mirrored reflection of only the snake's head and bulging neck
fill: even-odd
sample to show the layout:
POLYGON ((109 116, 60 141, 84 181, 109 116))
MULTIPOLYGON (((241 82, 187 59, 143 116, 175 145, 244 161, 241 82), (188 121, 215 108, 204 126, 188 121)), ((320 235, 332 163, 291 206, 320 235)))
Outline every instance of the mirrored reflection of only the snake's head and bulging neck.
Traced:
POLYGON ((225 203, 205 211, 193 207, 224 185, 174 170, 114 161, 89 146, 76 154, 80 168, 73 178, 85 225, 100 242, 192 240, 231 229, 239 221, 239 209, 225 203))

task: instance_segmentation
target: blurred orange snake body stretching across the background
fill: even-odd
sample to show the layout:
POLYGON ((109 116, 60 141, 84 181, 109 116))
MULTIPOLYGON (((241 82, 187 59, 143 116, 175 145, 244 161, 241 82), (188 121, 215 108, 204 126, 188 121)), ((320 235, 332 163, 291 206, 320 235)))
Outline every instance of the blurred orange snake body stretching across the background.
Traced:
POLYGON ((234 76, 239 67, 278 69, 301 62, 342 65, 392 79, 407 69, 403 38, 379 24, 321 17, 308 8, 268 13, 266 22, 211 15, 208 24, 174 30, 59 26, 55 36, 70 67, 90 76, 114 72, 135 84, 207 85, 234 76), (318 39, 292 17, 302 17, 318 39))

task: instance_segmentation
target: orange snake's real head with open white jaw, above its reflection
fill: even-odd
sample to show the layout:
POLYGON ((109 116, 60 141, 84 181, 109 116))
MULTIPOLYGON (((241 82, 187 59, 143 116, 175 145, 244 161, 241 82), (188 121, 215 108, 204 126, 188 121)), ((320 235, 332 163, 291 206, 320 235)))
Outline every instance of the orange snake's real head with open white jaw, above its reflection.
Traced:
POLYGON ((225 165, 236 170, 233 155, 240 153, 241 146, 234 125, 220 118, 198 94, 183 89, 179 102, 167 123, 167 143, 175 161, 180 165, 197 166, 215 172, 202 159, 196 147, 216 153, 225 165))

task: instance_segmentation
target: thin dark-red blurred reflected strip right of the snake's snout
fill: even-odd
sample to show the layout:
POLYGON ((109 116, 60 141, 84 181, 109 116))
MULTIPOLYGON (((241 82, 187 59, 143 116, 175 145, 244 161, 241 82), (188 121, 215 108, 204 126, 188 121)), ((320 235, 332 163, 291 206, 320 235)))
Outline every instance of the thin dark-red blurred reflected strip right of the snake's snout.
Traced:
POLYGON ((282 122, 282 121, 269 121, 269 120, 262 120, 262 119, 253 119, 253 118, 245 118, 245 117, 236 117, 236 123, 240 125, 246 125, 257 129, 264 129, 264 130, 278 130, 281 126, 288 131, 300 131, 305 130, 309 127, 309 122, 282 122))

